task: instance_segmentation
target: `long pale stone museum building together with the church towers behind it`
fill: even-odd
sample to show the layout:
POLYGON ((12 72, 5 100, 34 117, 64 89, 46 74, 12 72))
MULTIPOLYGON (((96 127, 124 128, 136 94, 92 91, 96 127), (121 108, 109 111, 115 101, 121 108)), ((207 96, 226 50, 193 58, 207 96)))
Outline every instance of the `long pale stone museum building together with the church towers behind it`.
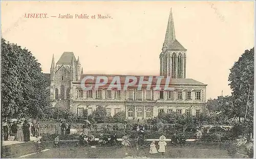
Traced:
MULTIPOLYGON (((90 115, 98 105, 105 107, 107 114, 111 116, 124 111, 127 119, 153 118, 161 112, 172 111, 199 116, 205 111, 207 85, 186 78, 186 51, 175 37, 171 10, 159 58, 160 75, 172 77, 172 91, 156 91, 153 88, 147 90, 143 87, 138 90, 137 86, 125 91, 106 88, 83 90, 81 80, 89 74, 83 74, 79 57, 76 60, 73 52, 63 52, 56 64, 54 57, 52 58, 50 99, 53 107, 69 108, 78 116, 83 114, 83 109, 87 109, 90 115)), ((117 75, 105 76, 113 78, 117 75)), ((127 75, 118 76, 123 79, 127 75)))

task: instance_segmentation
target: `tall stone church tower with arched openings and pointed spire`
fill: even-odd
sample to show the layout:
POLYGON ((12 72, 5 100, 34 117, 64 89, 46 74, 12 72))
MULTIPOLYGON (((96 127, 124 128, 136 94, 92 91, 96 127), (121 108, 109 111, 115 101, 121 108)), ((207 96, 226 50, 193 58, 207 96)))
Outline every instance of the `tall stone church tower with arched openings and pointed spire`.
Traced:
POLYGON ((176 39, 172 8, 160 54, 160 75, 186 78, 186 49, 176 39))

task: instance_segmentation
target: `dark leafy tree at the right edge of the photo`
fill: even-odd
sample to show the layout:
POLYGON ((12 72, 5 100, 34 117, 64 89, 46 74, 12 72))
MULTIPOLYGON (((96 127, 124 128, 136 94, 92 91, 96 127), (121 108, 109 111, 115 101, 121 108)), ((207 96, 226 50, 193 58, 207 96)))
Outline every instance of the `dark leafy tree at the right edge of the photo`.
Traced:
POLYGON ((228 77, 232 90, 233 117, 245 118, 253 121, 254 95, 254 47, 245 50, 244 54, 234 63, 228 77))

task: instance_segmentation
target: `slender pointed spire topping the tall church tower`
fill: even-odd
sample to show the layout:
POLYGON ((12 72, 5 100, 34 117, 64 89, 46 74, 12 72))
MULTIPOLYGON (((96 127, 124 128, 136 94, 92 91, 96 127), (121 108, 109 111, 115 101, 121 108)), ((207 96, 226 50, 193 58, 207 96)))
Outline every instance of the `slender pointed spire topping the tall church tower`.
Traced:
POLYGON ((172 8, 170 8, 170 14, 169 14, 163 47, 166 47, 166 46, 169 47, 174 42, 175 39, 176 38, 175 38, 175 30, 174 30, 173 12, 172 12, 172 8))

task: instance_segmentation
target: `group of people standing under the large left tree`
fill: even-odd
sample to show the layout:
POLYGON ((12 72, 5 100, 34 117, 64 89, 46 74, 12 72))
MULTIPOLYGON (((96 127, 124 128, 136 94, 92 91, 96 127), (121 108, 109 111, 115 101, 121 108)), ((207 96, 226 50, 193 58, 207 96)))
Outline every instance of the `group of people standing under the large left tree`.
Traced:
POLYGON ((30 141, 31 136, 40 136, 40 126, 38 121, 28 121, 27 119, 14 120, 3 123, 4 140, 7 141, 9 136, 14 136, 14 141, 30 141))

